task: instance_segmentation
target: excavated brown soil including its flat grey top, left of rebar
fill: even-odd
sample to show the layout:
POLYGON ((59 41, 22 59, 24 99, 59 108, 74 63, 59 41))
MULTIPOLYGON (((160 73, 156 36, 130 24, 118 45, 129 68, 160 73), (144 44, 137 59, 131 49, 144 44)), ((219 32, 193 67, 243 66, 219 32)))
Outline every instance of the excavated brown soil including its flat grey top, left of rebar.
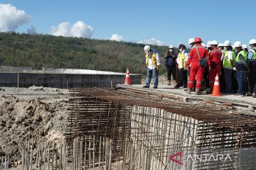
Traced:
POLYGON ((0 157, 10 157, 15 169, 21 164, 19 144, 24 139, 64 137, 68 94, 61 89, 1 89, 0 157))

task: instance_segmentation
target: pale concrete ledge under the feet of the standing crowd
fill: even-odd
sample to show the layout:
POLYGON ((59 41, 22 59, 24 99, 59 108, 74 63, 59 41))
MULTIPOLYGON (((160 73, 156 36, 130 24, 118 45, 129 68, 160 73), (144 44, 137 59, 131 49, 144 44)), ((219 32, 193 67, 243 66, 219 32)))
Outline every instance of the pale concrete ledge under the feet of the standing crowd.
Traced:
POLYGON ((186 94, 186 89, 175 89, 174 85, 169 86, 161 84, 159 85, 158 89, 153 89, 153 86, 150 86, 150 88, 147 89, 143 88, 143 86, 144 84, 117 85, 119 88, 129 89, 132 91, 144 91, 144 93, 159 94, 159 96, 167 95, 173 98, 179 98, 183 101, 204 101, 208 103, 220 103, 247 111, 255 111, 256 109, 256 98, 252 98, 252 96, 238 97, 234 96, 233 94, 223 94, 223 96, 210 96, 209 94, 196 95, 194 92, 192 92, 192 94, 186 94))

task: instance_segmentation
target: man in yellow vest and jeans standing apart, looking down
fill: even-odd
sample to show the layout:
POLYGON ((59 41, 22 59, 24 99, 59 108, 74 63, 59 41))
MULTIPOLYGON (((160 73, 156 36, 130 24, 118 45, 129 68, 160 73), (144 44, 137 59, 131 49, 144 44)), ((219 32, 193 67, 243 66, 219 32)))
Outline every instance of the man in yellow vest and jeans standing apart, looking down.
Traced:
POLYGON ((151 49, 149 45, 146 45, 144 47, 144 52, 146 53, 147 75, 146 75, 146 85, 143 87, 149 88, 152 74, 154 74, 154 89, 157 89, 159 66, 160 66, 159 53, 157 52, 157 50, 151 49))

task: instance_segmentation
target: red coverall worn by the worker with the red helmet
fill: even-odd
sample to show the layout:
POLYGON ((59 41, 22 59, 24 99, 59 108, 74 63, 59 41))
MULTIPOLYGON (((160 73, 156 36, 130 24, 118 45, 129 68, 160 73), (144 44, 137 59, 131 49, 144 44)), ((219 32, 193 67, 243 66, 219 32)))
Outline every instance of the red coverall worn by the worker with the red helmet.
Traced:
POLYGON ((199 57, 196 51, 196 47, 198 48, 199 55, 201 59, 206 58, 208 60, 208 52, 205 47, 201 44, 197 44, 193 47, 188 56, 187 67, 191 64, 189 79, 188 79, 188 88, 192 89, 195 83, 196 78, 196 89, 201 90, 202 81, 203 81, 203 72, 205 67, 199 66, 199 57))

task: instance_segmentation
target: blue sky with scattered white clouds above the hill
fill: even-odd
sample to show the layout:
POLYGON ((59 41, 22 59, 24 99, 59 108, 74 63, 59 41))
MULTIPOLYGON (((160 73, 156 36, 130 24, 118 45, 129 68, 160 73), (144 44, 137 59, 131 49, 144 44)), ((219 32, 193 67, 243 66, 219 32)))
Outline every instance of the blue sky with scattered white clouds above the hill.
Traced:
POLYGON ((254 0, 0 0, 0 32, 188 45, 256 38, 254 0))

